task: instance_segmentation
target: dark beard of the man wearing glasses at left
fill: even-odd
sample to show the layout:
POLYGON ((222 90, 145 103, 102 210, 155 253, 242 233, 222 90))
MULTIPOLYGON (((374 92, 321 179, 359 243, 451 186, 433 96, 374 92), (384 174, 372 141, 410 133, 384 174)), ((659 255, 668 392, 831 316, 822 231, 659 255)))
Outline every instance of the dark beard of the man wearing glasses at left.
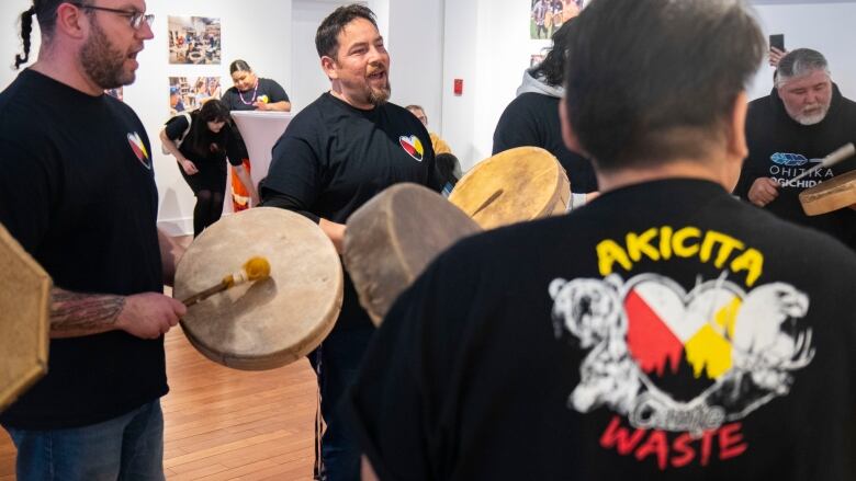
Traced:
POLYGON ((98 22, 90 22, 92 32, 80 49, 80 61, 90 79, 102 89, 115 89, 134 82, 134 71, 125 71, 127 55, 110 43, 98 22))

